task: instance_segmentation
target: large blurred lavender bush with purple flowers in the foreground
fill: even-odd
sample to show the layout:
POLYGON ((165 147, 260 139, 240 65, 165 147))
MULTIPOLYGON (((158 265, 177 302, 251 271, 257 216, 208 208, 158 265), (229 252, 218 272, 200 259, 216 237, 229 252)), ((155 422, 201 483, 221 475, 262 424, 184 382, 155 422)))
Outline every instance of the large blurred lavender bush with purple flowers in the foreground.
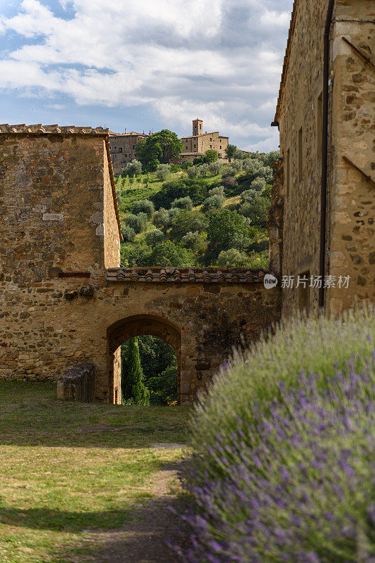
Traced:
POLYGON ((191 422, 185 562, 375 562, 374 333, 371 310, 298 321, 221 370, 191 422))

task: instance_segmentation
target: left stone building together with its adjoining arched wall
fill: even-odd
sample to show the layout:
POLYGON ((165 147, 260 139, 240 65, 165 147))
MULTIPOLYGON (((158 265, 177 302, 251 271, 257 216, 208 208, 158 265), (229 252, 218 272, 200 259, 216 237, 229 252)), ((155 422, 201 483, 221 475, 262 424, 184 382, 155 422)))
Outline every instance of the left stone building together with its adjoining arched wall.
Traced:
POLYGON ((119 346, 142 334, 178 357, 192 401, 232 346, 279 315, 261 270, 120 267, 108 129, 0 126, 0 377, 55 379, 94 365, 119 403, 119 346))

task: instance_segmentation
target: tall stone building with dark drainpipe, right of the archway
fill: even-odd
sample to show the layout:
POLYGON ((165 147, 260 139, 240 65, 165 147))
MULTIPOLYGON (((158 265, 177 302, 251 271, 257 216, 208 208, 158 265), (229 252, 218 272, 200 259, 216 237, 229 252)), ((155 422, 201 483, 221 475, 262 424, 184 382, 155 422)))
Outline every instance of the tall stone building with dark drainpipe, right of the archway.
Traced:
POLYGON ((294 2, 268 222, 284 315, 375 301, 374 20, 374 1, 294 2))

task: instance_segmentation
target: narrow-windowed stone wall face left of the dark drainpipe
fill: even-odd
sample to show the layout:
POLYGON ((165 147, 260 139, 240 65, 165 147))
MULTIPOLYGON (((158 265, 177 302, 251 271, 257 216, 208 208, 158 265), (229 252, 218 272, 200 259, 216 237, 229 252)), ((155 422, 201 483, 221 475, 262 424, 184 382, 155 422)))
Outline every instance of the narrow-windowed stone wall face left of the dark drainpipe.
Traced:
MULTIPOLYGON (((323 32, 328 0, 299 0, 279 115, 280 151, 284 168, 282 274, 319 274, 320 177, 318 99, 322 93, 323 32), (300 130, 302 135, 300 137, 300 130), (302 141, 302 162, 298 144, 302 141), (301 174, 300 170, 301 167, 301 174)), ((310 291, 310 312, 318 292, 310 291)), ((298 291, 283 289, 283 315, 298 310, 298 291)))

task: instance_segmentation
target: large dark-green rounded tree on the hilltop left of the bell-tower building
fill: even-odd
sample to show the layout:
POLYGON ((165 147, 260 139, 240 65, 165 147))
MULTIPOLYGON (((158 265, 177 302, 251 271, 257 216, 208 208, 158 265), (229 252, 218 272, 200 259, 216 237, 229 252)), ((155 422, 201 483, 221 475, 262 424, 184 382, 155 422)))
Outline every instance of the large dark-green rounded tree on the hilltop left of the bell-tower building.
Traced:
POLYGON ((183 151, 183 144, 176 133, 163 129, 146 139, 139 141, 136 146, 136 156, 145 170, 157 170, 160 163, 166 163, 170 158, 177 158, 183 151))

